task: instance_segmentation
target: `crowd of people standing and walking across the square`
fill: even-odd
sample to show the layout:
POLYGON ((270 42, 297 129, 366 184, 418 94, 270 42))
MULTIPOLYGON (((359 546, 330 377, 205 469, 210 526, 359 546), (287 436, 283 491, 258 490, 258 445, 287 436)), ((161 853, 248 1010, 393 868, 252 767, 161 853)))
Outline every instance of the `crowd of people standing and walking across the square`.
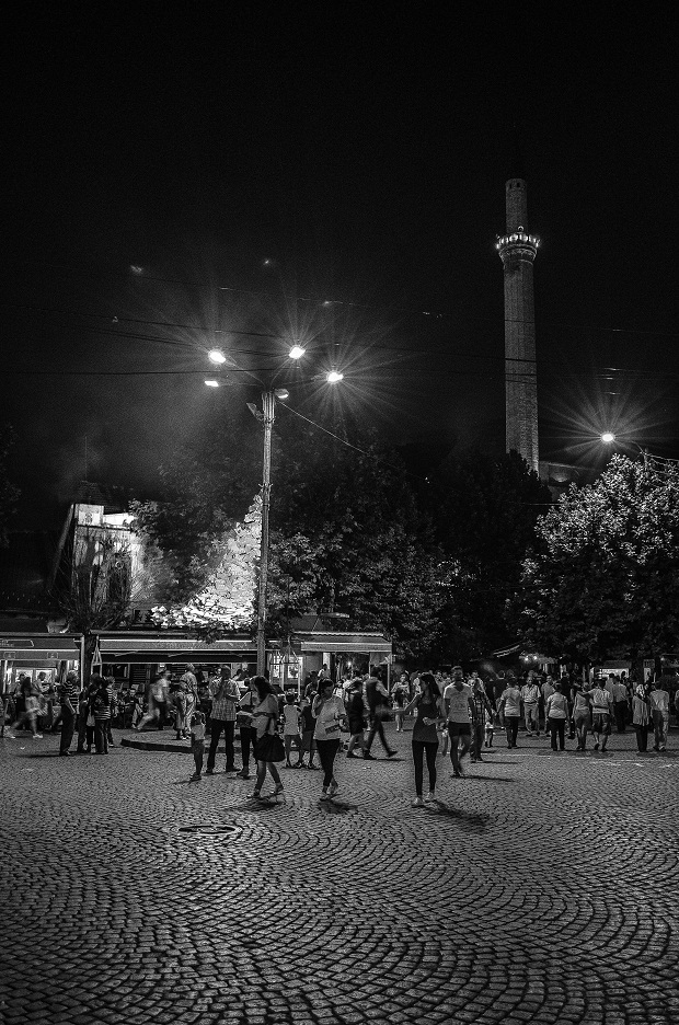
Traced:
MULTIPOLYGON (((460 778, 465 773, 467 759, 482 761, 500 729, 509 749, 518 746, 522 723, 526 737, 549 738, 552 753, 565 751, 567 738, 576 741, 576 752, 585 751, 590 736, 594 750, 605 752, 613 729, 622 734, 631 725, 640 752, 647 751, 649 737, 653 749, 663 752, 667 748, 669 716, 672 710, 679 715, 679 690, 672 696, 661 679, 642 683, 625 673, 588 682, 567 675, 555 679, 534 671, 523 677, 507 671, 484 682, 479 672, 465 677, 462 668, 454 666, 449 673, 402 673, 389 689, 373 671, 335 683, 324 667, 307 681, 301 693, 283 694, 279 690, 263 676, 237 681, 228 669, 199 679, 191 665, 176 679, 159 673, 146 694, 129 689, 116 693, 114 680, 99 673, 82 690, 74 671, 56 687, 25 677, 19 679, 12 695, 10 722, 14 721, 14 730, 25 728, 39 739, 36 721, 38 713, 46 714, 49 694, 53 728, 60 727, 62 757, 108 753, 114 744, 112 724, 131 725, 138 730, 170 725, 177 740, 192 746, 193 781, 203 778, 208 736, 205 773, 215 774, 223 736, 227 773, 238 772, 249 780, 253 762, 253 798, 262 797, 267 775, 274 784, 272 796, 284 793, 277 768, 283 762, 286 769, 320 769, 320 799, 330 801, 338 790, 335 765, 343 748, 348 759, 373 760, 372 747, 379 739, 391 759, 396 751, 389 745, 385 721, 393 718, 395 732, 402 733, 413 717, 413 804, 421 806, 435 799, 439 757, 449 753, 452 774, 460 778), (237 729, 240 769, 235 765, 237 729), (346 742, 343 734, 348 735, 346 742), (76 751, 71 752, 76 736, 76 751)), ((2 725, 4 728, 4 719, 2 725)), ((10 729, 7 736, 13 739, 16 733, 10 729)))

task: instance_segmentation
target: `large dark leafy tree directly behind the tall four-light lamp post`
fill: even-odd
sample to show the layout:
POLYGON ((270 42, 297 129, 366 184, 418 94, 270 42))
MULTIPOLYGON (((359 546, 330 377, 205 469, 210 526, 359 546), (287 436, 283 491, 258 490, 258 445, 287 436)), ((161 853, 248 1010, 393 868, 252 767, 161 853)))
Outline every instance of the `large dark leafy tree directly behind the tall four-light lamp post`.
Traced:
MULTIPOLYGON (((163 469, 166 500, 135 507, 139 529, 169 560, 174 602, 191 602, 205 588, 243 517, 244 491, 261 473, 261 435, 251 425, 246 434, 254 452, 251 440, 212 428, 204 449, 193 444, 163 469)), ((350 445, 291 415, 277 427, 269 625, 284 633, 295 612, 342 609, 358 627, 385 631, 415 656, 438 631, 430 526, 395 453, 369 430, 350 445)))

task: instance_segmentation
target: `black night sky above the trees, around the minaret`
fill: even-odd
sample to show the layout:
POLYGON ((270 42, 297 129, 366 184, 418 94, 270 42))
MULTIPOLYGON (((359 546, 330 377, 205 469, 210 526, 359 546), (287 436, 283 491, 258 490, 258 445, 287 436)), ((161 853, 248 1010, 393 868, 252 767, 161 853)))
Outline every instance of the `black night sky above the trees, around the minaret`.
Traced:
POLYGON ((264 379, 331 429, 502 447, 495 237, 517 174, 542 240, 541 456, 596 463, 613 429, 679 457, 674 26, 620 5, 418 7, 15 12, 15 526, 58 520, 85 449, 90 480, 152 494, 176 446, 264 379), (216 344, 230 387, 211 391, 216 344), (342 391, 312 380, 330 367, 342 391))

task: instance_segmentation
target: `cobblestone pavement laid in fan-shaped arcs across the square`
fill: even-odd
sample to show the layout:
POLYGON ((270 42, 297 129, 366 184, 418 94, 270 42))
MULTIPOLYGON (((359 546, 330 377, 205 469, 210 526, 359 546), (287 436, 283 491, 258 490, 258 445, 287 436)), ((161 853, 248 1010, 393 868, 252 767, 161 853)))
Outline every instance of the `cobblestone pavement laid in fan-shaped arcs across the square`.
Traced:
POLYGON ((172 753, 0 741, 0 1022, 679 1022, 676 730, 439 759, 425 808, 390 739, 331 805, 319 772, 256 804, 172 753))

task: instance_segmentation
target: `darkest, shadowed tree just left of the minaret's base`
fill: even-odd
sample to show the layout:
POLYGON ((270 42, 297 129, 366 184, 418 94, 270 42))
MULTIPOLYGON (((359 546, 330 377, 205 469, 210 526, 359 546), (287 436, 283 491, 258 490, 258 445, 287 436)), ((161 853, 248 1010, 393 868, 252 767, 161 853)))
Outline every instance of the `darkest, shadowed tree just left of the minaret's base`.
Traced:
POLYGON ((550 492, 517 452, 470 452, 446 460, 434 479, 430 505, 445 557, 441 659, 475 658, 510 643, 505 606, 520 580, 550 492))

